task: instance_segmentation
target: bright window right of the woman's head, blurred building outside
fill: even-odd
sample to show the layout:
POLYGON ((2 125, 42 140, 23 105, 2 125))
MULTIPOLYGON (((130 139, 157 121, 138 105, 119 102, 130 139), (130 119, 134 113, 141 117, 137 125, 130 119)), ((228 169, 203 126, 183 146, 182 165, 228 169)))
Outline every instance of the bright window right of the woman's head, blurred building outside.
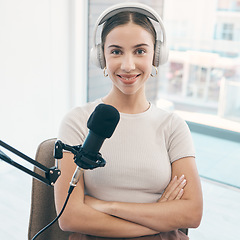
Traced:
POLYGON ((161 75, 159 96, 173 102, 178 110, 240 120, 240 15, 218 11, 230 2, 238 3, 164 2, 170 58, 161 75))

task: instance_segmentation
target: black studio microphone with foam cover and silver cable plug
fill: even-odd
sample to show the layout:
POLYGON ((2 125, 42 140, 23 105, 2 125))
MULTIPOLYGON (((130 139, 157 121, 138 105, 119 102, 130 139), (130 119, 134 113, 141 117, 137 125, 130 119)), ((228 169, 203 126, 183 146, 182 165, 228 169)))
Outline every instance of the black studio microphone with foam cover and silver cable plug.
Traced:
MULTIPOLYGON (((99 150, 105 139, 112 136, 119 119, 118 110, 111 105, 101 103, 92 112, 87 122, 89 133, 81 147, 80 155, 74 161, 77 164, 77 168, 70 182, 71 186, 76 186, 83 169, 94 168, 89 167, 90 163, 98 163, 99 157, 101 158, 99 150)), ((101 158, 101 160, 103 159, 101 158)), ((105 161, 101 166, 105 166, 105 161)))

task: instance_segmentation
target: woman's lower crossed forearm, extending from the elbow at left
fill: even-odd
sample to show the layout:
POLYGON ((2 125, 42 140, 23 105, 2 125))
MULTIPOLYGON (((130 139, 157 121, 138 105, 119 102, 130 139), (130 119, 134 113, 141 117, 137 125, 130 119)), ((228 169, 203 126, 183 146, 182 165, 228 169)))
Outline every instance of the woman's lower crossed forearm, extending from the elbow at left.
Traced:
POLYGON ((157 234, 157 231, 96 211, 85 204, 67 209, 60 226, 65 231, 99 237, 131 238, 157 234))

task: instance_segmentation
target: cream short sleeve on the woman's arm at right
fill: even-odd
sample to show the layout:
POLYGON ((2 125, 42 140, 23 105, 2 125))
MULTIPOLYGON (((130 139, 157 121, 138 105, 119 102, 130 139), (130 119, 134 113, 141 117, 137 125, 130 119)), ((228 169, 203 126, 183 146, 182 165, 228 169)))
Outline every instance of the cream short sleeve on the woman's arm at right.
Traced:
POLYGON ((171 119, 168 153, 171 163, 183 157, 195 157, 195 149, 189 127, 177 114, 173 114, 171 119))

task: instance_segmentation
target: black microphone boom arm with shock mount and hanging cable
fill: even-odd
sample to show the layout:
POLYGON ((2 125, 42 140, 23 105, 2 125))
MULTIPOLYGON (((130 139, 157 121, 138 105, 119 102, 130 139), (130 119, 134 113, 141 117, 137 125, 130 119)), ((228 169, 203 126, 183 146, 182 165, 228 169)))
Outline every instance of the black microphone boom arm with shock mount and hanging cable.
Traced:
MULTIPOLYGON (((24 160, 28 161, 32 165, 36 166, 40 170, 42 170, 45 173, 45 177, 35 173, 34 171, 29 170, 28 168, 22 166, 21 164, 13 161, 10 157, 8 157, 4 152, 0 150, 0 159, 3 161, 9 163, 10 165, 20 169, 21 171, 31 175, 32 177, 36 178, 37 180, 47 184, 48 186, 54 186, 54 183, 57 181, 58 177, 61 175, 61 171, 56 167, 47 168, 46 166, 42 165, 41 163, 33 160, 32 158, 28 157, 27 155, 21 153, 17 149, 11 147, 10 145, 6 144, 5 142, 0 140, 0 146, 6 148, 10 152, 16 154, 17 156, 23 158, 24 160)), ((47 228, 52 226, 62 215, 67 202, 69 200, 69 197, 75 188, 77 182, 79 181, 79 178, 81 174, 83 173, 84 169, 95 169, 97 167, 104 167, 106 164, 106 161, 102 158, 102 155, 100 153, 91 153, 82 148, 81 145, 78 146, 69 146, 67 144, 64 144, 60 140, 55 142, 55 148, 54 148, 54 158, 55 159, 61 159, 63 157, 63 150, 72 152, 74 154, 74 162, 77 164, 76 171, 72 177, 72 180, 70 182, 70 187, 68 190, 68 195, 65 200, 65 203, 62 207, 61 212, 58 214, 58 216, 50 222, 47 226, 45 226, 43 229, 41 229, 33 238, 32 240, 35 240, 42 232, 44 232, 47 228)), ((57 164, 58 165, 58 164, 57 164)))

